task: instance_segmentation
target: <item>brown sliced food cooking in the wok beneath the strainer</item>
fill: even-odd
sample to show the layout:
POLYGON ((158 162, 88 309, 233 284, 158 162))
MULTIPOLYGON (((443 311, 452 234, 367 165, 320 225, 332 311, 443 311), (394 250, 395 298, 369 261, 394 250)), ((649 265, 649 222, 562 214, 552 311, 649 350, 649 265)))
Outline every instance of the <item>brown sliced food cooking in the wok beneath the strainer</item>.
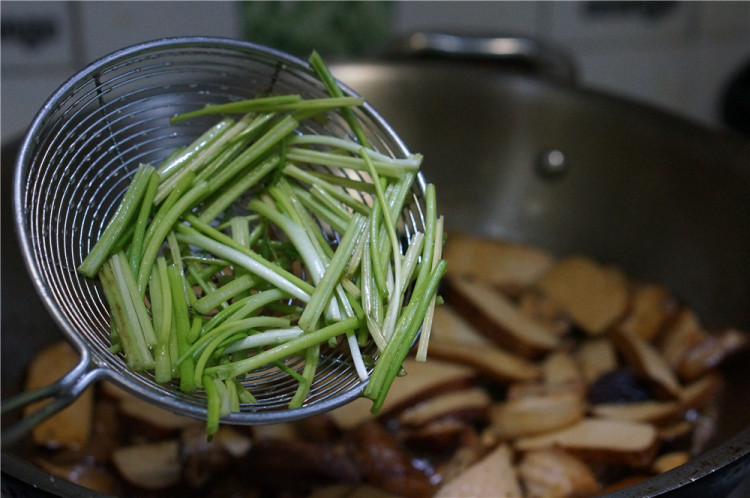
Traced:
MULTIPOLYGON (((444 256, 430 360, 407 359, 376 416, 360 399, 208 443, 200 421, 100 383, 34 430, 30 458, 118 495, 531 497, 595 496, 704 449, 745 334, 585 256, 459 233, 444 256)), ((52 348, 30 383, 75 364, 52 348)))

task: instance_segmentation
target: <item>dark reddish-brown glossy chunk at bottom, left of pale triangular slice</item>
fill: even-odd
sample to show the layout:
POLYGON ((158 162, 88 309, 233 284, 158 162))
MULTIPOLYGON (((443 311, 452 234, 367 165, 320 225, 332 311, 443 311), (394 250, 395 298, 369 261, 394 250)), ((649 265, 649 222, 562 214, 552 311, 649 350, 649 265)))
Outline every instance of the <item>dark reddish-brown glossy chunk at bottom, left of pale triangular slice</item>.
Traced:
POLYGON ((350 434, 365 482, 404 497, 432 496, 429 477, 412 465, 412 455, 378 422, 350 434))

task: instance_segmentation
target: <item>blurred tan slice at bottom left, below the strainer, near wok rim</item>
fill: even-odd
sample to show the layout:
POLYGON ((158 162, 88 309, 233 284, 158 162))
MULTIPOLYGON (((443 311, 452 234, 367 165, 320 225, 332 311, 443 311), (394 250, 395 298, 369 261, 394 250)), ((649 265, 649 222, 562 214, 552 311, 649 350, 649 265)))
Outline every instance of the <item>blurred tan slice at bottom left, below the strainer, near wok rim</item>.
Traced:
POLYGON ((156 443, 123 446, 112 453, 112 463, 133 486, 160 490, 180 481, 180 442, 168 439, 156 443))

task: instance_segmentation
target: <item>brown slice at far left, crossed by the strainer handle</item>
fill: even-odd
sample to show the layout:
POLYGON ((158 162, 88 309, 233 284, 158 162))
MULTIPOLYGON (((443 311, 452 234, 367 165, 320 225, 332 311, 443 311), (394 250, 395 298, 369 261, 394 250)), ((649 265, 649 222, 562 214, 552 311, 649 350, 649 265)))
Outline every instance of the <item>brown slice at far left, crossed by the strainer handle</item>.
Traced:
MULTIPOLYGON (((46 347, 34 356, 28 369, 26 390, 57 382, 78 364, 78 353, 65 341, 46 347)), ((37 411, 50 400, 28 405, 24 416, 37 411)), ((47 448, 81 449, 89 441, 94 410, 94 392, 88 388, 70 405, 40 422, 31 431, 35 444, 47 448)))

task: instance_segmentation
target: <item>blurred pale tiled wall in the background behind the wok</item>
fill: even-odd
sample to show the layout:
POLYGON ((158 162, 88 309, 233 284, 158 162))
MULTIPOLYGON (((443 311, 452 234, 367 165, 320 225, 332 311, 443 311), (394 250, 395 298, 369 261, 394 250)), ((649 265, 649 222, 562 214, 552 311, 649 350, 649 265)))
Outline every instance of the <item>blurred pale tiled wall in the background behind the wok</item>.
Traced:
MULTIPOLYGON (((291 5, 291 4, 289 4, 291 5)), ((87 62, 164 36, 243 37, 238 2, 3 1, 2 140, 87 62)), ((723 86, 750 60, 750 2, 427 2, 389 6, 414 30, 527 35, 574 57, 582 84, 718 125, 723 86)), ((304 23, 300 23, 304 25, 304 23)))

